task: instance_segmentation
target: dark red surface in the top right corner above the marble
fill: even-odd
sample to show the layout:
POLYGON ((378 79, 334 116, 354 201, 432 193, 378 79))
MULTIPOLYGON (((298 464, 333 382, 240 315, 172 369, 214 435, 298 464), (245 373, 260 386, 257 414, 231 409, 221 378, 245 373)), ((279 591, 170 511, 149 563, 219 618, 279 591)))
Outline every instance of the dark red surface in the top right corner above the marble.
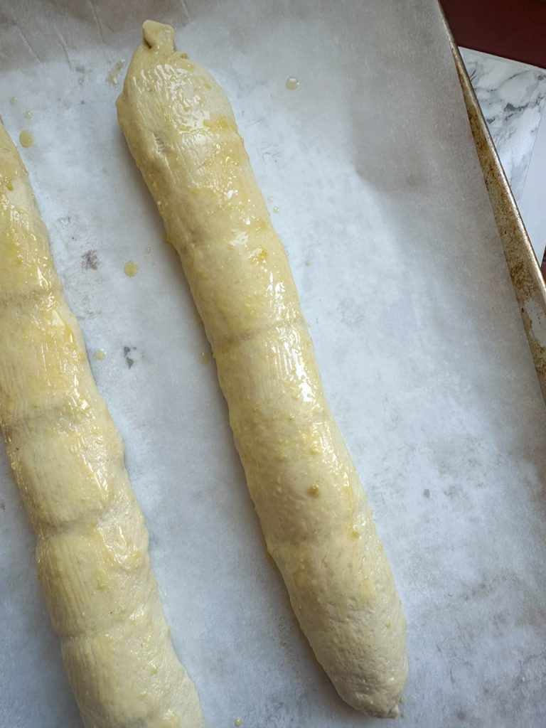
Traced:
POLYGON ((546 0, 440 0, 457 45, 546 68, 546 0))

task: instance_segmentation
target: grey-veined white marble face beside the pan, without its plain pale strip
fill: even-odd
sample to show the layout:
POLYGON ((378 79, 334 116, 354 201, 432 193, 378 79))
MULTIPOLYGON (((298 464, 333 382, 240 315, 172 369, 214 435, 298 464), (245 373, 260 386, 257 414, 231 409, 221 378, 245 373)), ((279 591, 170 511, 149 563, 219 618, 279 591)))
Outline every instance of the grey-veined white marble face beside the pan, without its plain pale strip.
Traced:
POLYGON ((546 71, 461 48, 472 86, 517 202, 546 100, 546 71))

